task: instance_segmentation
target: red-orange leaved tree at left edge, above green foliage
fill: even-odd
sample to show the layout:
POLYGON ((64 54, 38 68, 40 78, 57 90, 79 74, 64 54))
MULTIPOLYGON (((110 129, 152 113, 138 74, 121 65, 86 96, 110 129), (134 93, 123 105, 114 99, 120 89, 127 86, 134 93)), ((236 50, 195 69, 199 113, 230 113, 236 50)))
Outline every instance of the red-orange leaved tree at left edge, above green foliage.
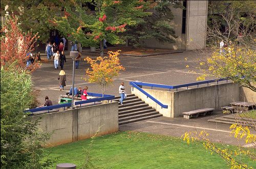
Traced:
POLYGON ((1 30, 1 66, 8 69, 11 64, 22 68, 22 70, 35 70, 40 65, 34 62, 26 67, 29 56, 27 54, 34 50, 34 44, 39 38, 38 34, 31 32, 24 34, 18 28, 18 19, 11 16, 1 30))

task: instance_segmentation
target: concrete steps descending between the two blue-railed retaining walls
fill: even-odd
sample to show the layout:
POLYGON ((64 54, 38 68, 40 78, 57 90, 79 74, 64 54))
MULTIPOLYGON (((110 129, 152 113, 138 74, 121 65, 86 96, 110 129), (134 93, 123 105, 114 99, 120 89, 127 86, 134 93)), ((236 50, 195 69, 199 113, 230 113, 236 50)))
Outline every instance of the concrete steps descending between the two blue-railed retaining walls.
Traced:
MULTIPOLYGON (((119 99, 120 96, 117 96, 113 101, 119 101, 119 99)), ((123 101, 123 105, 118 103, 119 125, 158 118, 161 116, 163 115, 159 114, 156 109, 149 106, 134 94, 127 95, 123 101)))

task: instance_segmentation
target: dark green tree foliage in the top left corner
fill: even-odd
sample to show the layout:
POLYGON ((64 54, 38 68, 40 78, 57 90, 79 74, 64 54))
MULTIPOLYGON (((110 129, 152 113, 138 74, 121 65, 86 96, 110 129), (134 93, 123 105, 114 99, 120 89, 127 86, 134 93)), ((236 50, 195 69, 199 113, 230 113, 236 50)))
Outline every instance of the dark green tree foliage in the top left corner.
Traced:
POLYGON ((50 22, 52 18, 61 14, 63 6, 70 5, 70 1, 40 1, 40 0, 2 0, 1 16, 13 14, 18 19, 18 26, 22 32, 37 32, 40 40, 46 42, 49 39, 50 31, 54 29, 50 22))

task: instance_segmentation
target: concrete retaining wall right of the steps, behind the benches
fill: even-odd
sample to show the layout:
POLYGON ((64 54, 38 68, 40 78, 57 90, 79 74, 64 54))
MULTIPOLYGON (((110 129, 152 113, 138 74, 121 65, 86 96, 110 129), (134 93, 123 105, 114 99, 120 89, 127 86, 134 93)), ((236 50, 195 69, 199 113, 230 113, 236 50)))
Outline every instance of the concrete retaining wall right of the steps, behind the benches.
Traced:
POLYGON ((155 97, 161 103, 168 105, 168 108, 161 108, 150 98, 136 88, 132 88, 132 93, 141 98, 150 106, 156 108, 165 117, 180 117, 182 112, 200 108, 220 108, 230 102, 239 100, 239 86, 234 83, 224 83, 209 87, 195 88, 177 92, 159 91, 143 89, 148 94, 155 97))

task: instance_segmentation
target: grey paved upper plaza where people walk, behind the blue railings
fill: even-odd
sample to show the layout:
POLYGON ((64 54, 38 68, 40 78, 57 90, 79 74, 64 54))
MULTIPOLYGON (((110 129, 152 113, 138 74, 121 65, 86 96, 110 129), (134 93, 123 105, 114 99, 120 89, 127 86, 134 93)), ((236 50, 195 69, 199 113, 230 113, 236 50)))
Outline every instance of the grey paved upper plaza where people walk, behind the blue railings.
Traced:
MULTIPOLYGON (((37 69, 32 74, 32 79, 36 89, 41 90, 38 97, 41 103, 44 103, 45 96, 56 104, 58 96, 69 91, 72 86, 72 59, 69 58, 69 52, 66 52, 67 62, 64 65, 64 70, 67 75, 67 87, 60 91, 58 86, 58 73, 60 69, 55 70, 53 60, 49 64, 42 64, 40 69, 37 69)), ((83 55, 90 53, 82 53, 83 55)), ((93 55, 92 58, 96 58, 93 55)), ((42 56, 46 58, 46 55, 42 56)), ((190 72, 195 69, 195 59, 200 58, 195 51, 184 51, 183 53, 157 55, 152 57, 127 57, 120 56, 120 62, 125 67, 125 71, 120 72, 120 75, 115 78, 114 86, 106 88, 105 94, 118 95, 118 87, 120 82, 125 82, 126 92, 131 93, 129 81, 139 80, 143 82, 160 83, 164 85, 180 85, 188 82, 195 82, 199 74, 190 72), (187 61, 185 61, 187 58, 187 61), (189 65, 189 68, 186 68, 189 65)), ((100 88, 84 81, 86 69, 89 68, 86 61, 80 61, 79 69, 75 70, 75 87, 88 86, 89 92, 101 93, 100 88)))

